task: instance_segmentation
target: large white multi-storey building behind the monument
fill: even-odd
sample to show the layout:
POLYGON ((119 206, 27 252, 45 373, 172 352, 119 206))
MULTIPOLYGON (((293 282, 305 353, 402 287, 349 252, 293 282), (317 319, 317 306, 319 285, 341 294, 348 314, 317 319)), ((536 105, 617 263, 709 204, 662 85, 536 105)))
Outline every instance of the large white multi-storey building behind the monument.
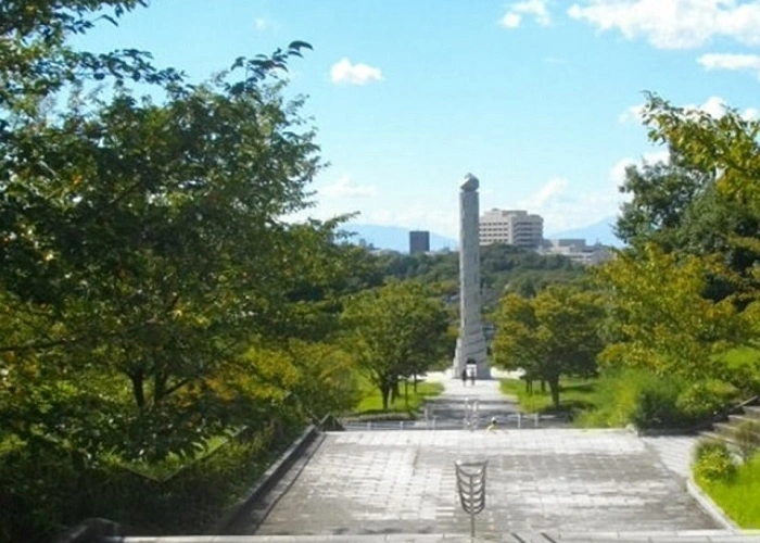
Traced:
POLYGON ((544 219, 522 210, 491 210, 480 216, 480 244, 508 243, 536 249, 544 240, 544 219))

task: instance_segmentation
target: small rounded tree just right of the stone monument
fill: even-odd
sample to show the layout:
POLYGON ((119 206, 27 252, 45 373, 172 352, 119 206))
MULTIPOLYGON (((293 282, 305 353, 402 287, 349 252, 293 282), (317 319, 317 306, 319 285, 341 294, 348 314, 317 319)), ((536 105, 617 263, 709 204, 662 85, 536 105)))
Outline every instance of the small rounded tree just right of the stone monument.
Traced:
POLYGON ((546 381, 557 408, 561 376, 596 371, 603 314, 599 295, 577 286, 552 285, 530 299, 507 294, 494 315, 494 364, 546 381))

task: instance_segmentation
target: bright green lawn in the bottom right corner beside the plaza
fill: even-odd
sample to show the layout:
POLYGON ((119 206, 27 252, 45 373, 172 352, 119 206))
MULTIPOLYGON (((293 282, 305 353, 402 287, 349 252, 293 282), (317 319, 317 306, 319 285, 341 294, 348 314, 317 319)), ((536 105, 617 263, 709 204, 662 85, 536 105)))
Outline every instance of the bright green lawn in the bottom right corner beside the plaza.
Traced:
POLYGON ((760 454, 739 466, 731 481, 697 483, 734 522, 760 529, 760 454))

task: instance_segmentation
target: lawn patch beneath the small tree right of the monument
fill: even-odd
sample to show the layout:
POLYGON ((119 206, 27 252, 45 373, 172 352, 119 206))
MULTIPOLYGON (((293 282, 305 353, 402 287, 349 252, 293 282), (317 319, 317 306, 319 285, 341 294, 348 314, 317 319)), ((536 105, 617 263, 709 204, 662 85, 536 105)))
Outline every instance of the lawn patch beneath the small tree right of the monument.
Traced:
POLYGON ((552 404, 548 386, 542 392, 541 383, 536 381, 533 383, 533 392, 527 392, 525 382, 518 379, 502 379, 499 383, 504 394, 517 396, 523 413, 561 413, 574 416, 598 404, 597 379, 565 377, 560 379, 559 387, 559 409, 556 409, 552 404))

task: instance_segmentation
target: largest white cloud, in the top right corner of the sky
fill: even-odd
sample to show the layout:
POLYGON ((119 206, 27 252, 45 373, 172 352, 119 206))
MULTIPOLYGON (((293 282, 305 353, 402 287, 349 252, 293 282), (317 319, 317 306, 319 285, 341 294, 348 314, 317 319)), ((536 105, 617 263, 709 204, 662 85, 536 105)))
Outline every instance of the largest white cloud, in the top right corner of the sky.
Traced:
POLYGON ((696 48, 713 38, 760 43, 758 0, 584 0, 568 14, 628 39, 643 36, 659 49, 696 48))

